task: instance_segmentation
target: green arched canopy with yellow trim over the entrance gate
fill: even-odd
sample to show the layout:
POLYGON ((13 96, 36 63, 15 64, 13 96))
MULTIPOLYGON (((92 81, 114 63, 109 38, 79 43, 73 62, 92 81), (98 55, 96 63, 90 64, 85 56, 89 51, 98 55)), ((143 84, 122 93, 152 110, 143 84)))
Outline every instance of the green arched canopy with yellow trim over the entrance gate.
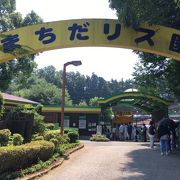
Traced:
POLYGON ((172 102, 142 92, 123 92, 106 99, 99 99, 98 104, 101 107, 129 105, 152 113, 157 110, 167 110, 168 106, 170 106, 172 102))

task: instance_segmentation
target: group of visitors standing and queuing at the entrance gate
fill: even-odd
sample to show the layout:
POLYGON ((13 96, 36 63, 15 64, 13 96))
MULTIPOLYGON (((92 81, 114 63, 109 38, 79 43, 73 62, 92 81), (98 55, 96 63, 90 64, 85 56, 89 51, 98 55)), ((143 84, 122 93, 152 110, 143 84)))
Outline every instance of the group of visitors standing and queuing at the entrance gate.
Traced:
POLYGON ((156 127, 153 121, 150 121, 148 128, 145 124, 142 127, 137 127, 131 123, 115 125, 111 132, 107 130, 106 136, 111 140, 144 142, 147 142, 147 137, 149 137, 151 149, 154 149, 156 137, 160 142, 161 155, 168 155, 173 148, 176 148, 175 129, 176 124, 173 120, 163 118, 156 124, 156 127))

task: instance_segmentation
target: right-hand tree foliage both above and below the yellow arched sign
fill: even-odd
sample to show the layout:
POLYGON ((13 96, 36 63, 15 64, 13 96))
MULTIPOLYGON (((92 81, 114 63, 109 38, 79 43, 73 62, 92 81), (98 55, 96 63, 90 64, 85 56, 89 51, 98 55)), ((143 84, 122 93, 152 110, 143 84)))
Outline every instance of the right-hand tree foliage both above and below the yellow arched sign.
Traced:
MULTIPOLYGON (((147 23, 180 29, 180 2, 172 0, 109 0, 118 18, 125 26, 134 29, 147 23)), ((138 85, 152 93, 166 94, 171 91, 180 99, 180 62, 150 53, 135 51, 140 63, 135 68, 134 79, 138 85), (175 67, 176 66, 176 67, 175 67), (176 79, 176 81, 172 81, 176 79), (165 92, 164 92, 165 91, 165 92), (161 92, 161 93, 160 93, 161 92)))

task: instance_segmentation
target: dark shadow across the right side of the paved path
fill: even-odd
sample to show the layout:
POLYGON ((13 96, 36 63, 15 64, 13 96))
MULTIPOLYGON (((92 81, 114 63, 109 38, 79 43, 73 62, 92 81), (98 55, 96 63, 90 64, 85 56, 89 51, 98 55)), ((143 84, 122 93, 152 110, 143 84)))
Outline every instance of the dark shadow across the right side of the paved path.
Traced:
POLYGON ((161 156, 159 146, 151 150, 146 144, 144 148, 127 154, 129 160, 119 169, 122 173, 117 180, 178 180, 180 179, 180 152, 171 152, 169 156, 161 156))

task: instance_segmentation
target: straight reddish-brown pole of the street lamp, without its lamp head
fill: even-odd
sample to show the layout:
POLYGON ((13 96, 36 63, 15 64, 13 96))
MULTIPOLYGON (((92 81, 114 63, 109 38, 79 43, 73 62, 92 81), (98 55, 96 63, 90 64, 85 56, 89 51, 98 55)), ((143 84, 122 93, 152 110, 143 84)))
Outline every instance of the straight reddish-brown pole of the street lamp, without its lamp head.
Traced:
POLYGON ((65 86, 66 86, 66 64, 64 64, 64 68, 63 68, 63 81, 62 81, 62 96, 61 96, 61 135, 64 134, 65 86))

